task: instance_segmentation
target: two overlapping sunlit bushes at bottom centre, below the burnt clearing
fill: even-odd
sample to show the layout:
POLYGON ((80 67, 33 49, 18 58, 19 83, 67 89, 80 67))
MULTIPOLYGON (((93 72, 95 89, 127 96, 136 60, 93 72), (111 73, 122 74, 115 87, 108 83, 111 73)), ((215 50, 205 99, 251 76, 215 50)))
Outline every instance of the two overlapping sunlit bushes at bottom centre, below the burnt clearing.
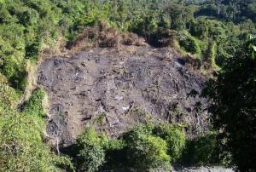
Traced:
POLYGON ((131 131, 124 135, 124 140, 128 149, 127 154, 128 157, 130 156, 131 164, 136 164, 136 162, 138 162, 136 164, 136 168, 138 169, 155 169, 161 166, 158 164, 159 160, 157 160, 158 158, 156 157, 159 156, 159 158, 162 158, 162 168, 167 168, 171 160, 174 162, 183 152, 185 135, 182 130, 182 127, 163 123, 157 126, 152 124, 138 125, 136 128, 131 129, 131 131), (163 146, 156 145, 157 140, 160 142, 160 145, 163 146), (152 143, 148 143, 150 141, 152 141, 152 143), (156 142, 154 143, 154 141, 156 142), (145 147, 146 145, 153 146, 154 149, 156 149, 157 146, 160 146, 158 149, 161 149, 161 151, 159 150, 159 152, 162 152, 163 154, 150 155, 152 153, 150 152, 151 149, 145 147), (148 150, 148 152, 143 152, 143 150, 148 150), (151 163, 149 163, 150 161, 151 163))

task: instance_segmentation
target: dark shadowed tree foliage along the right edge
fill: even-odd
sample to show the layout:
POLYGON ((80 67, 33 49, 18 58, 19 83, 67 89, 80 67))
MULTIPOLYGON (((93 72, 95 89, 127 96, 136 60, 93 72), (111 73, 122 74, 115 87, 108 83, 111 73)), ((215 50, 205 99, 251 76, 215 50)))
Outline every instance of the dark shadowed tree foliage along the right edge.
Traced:
POLYGON ((219 146, 223 152, 231 152, 232 162, 241 171, 256 169, 254 45, 255 39, 248 41, 226 60, 204 93, 212 100, 214 127, 220 132, 219 146))

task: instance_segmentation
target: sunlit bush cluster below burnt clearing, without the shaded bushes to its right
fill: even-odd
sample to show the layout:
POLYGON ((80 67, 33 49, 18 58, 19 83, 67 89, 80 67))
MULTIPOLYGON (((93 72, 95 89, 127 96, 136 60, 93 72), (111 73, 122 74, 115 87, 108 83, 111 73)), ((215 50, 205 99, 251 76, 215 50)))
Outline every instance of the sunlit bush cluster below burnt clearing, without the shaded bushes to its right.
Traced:
POLYGON ((182 127, 169 124, 140 124, 118 140, 110 140, 89 128, 77 140, 77 167, 86 171, 124 167, 167 170, 171 159, 179 158, 184 141, 182 127))

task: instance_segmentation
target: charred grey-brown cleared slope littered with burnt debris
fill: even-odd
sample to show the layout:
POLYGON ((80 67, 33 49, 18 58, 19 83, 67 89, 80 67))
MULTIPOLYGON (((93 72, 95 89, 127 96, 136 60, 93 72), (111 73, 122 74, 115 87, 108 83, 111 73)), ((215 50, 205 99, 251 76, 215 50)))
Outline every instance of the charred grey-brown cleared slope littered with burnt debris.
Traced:
POLYGON ((73 144, 86 126, 117 137, 137 123, 186 123, 188 135, 208 129, 207 112, 196 102, 205 78, 173 49, 96 48, 56 56, 38 67, 38 85, 49 100, 47 134, 73 144))

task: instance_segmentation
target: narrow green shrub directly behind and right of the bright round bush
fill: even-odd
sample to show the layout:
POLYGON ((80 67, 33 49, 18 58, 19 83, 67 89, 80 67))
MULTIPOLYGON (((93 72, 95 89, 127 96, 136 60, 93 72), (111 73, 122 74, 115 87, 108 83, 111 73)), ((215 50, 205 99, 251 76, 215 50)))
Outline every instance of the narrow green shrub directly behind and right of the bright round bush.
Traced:
POLYGON ((172 161, 176 161, 177 158, 181 156, 185 146, 185 135, 182 129, 182 127, 163 123, 156 126, 154 129, 155 135, 166 140, 168 155, 170 155, 172 161))

